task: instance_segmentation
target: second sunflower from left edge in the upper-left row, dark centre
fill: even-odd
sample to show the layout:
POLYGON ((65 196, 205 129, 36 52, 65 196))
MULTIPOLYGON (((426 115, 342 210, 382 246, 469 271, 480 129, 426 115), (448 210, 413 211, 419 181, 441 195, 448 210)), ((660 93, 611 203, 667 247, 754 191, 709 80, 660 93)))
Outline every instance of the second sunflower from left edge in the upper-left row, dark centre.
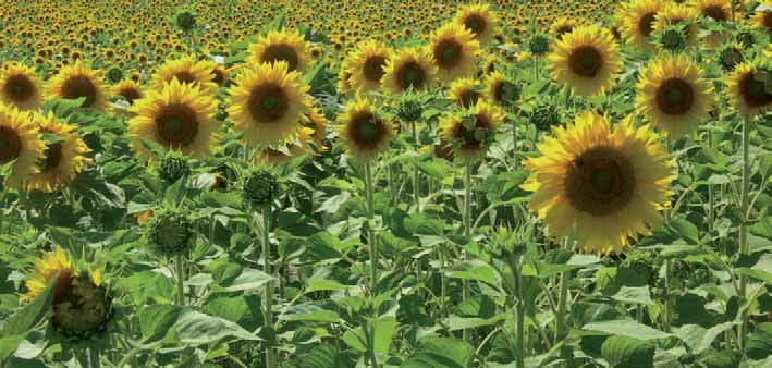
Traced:
POLYGON ((101 110, 105 108, 105 88, 102 72, 91 70, 84 62, 76 61, 59 71, 48 82, 49 96, 60 99, 78 99, 84 97, 82 107, 101 110))

